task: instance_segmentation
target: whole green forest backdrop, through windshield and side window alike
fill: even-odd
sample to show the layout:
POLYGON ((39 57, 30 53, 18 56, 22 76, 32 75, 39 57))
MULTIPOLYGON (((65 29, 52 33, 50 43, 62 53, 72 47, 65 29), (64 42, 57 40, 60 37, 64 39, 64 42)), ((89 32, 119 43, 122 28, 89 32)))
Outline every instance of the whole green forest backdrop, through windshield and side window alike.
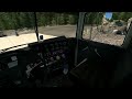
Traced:
MULTIPOLYGON (((88 12, 86 24, 101 24, 105 12, 88 12)), ((77 24, 78 12, 36 12, 37 25, 66 25, 77 24)), ((132 12, 113 12, 113 20, 128 21, 132 16, 132 12)), ((23 28, 34 28, 33 12, 0 12, 0 31, 16 30, 23 28)))

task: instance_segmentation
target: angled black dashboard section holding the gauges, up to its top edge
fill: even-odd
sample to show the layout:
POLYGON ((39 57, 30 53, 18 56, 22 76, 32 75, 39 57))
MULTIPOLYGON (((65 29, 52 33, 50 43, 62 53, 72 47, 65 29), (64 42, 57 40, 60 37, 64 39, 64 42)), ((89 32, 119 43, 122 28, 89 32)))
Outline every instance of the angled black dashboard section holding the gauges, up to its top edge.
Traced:
POLYGON ((41 43, 30 44, 31 50, 38 52, 43 58, 44 65, 50 72, 64 69, 68 66, 68 46, 67 40, 64 36, 46 40, 41 43))

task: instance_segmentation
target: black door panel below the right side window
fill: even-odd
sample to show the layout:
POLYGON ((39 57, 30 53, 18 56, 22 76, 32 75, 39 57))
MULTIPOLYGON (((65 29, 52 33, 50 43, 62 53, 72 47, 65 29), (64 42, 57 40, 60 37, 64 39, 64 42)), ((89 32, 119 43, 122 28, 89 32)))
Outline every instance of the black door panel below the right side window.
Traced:
POLYGON ((123 48, 80 40, 78 45, 78 64, 87 58, 87 62, 72 73, 80 79, 82 86, 109 87, 113 77, 119 57, 124 52, 123 48))

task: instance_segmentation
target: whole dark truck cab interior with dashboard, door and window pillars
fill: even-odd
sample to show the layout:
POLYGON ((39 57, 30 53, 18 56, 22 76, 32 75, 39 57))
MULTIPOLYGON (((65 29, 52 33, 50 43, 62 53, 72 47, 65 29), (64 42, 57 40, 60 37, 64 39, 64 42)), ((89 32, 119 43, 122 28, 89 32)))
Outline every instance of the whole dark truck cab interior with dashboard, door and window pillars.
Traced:
MULTIPOLYGON (((132 25, 121 46, 82 38, 86 12, 78 13, 76 37, 57 36, 0 54, 1 88, 132 86, 132 25)), ((15 46, 16 47, 16 46, 15 46)))

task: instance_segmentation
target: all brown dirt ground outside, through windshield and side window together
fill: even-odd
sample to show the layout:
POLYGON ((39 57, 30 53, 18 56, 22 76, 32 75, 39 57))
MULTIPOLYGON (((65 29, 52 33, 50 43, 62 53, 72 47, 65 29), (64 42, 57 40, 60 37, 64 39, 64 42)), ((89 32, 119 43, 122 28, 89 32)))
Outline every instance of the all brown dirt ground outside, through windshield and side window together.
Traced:
MULTIPOLYGON (((46 35, 54 35, 54 36, 62 36, 65 35, 66 37, 75 37, 76 36, 76 25, 57 25, 57 26, 41 26, 38 28, 38 33, 46 34, 46 35)), ((85 28, 85 31, 82 33, 82 37, 88 40, 89 38, 89 33, 90 26, 85 28), (87 30, 86 30, 87 29, 87 30)), ((29 34, 29 33, 34 33, 34 30, 19 30, 19 34, 29 34)), ((4 34, 7 35, 15 35, 14 30, 8 30, 3 31, 4 34)), ((91 34, 91 40, 101 42, 101 43, 107 43, 107 44, 112 44, 112 45, 121 45, 124 40, 124 35, 117 35, 113 33, 100 33, 97 32, 97 30, 92 31, 91 34)))

